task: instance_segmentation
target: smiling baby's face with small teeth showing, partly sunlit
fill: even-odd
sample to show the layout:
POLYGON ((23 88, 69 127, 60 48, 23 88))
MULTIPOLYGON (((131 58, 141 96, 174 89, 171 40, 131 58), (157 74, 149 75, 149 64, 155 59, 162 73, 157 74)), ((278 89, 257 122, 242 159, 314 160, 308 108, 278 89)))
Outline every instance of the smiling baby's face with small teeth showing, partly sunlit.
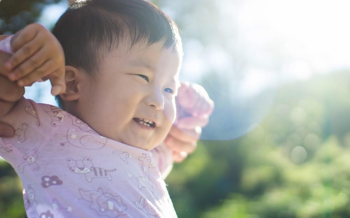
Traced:
POLYGON ((113 140, 145 150, 159 145, 175 120, 181 64, 178 52, 162 47, 119 43, 102 60, 97 80, 83 80, 81 118, 113 140))

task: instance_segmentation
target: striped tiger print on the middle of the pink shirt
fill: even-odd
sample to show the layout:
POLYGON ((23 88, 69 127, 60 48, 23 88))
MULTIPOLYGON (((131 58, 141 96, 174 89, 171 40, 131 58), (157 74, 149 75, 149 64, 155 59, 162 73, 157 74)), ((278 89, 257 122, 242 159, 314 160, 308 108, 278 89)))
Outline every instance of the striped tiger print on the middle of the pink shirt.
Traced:
POLYGON ((114 172, 117 169, 105 170, 101 167, 94 167, 91 157, 85 157, 84 160, 74 160, 72 158, 66 158, 69 169, 72 172, 85 174, 85 178, 88 182, 91 182, 94 178, 107 178, 112 180, 110 172, 114 172))

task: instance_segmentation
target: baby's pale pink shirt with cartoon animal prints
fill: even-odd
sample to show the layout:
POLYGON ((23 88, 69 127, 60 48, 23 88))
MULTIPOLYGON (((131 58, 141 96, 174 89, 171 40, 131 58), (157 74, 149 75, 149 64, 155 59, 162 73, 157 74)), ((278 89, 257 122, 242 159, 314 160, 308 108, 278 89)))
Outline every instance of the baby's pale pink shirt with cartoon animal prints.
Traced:
POLYGON ((25 98, 0 120, 16 129, 0 138, 0 156, 23 183, 28 218, 177 217, 163 180, 172 167, 165 145, 146 151, 111 140, 25 98))

